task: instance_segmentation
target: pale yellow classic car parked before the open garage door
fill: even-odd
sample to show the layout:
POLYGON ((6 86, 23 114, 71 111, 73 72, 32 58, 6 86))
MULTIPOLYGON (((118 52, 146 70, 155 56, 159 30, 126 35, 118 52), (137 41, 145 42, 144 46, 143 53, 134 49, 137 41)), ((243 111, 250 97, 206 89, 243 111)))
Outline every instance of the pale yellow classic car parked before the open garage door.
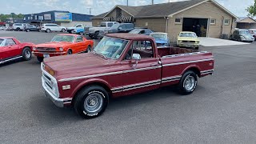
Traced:
POLYGON ((200 40, 198 39, 197 34, 190 31, 182 31, 178 34, 177 46, 180 47, 189 47, 195 50, 199 49, 200 40))

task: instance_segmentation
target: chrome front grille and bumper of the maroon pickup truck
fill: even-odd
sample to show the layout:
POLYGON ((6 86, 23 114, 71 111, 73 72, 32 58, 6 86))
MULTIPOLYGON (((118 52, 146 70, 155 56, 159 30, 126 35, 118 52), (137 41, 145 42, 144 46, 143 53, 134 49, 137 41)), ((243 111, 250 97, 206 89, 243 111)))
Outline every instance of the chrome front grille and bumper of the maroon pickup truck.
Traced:
POLYGON ((65 104, 70 104, 72 98, 59 98, 57 80, 44 70, 44 64, 41 63, 42 70, 42 87, 45 91, 45 96, 50 98, 58 107, 63 107, 65 104))

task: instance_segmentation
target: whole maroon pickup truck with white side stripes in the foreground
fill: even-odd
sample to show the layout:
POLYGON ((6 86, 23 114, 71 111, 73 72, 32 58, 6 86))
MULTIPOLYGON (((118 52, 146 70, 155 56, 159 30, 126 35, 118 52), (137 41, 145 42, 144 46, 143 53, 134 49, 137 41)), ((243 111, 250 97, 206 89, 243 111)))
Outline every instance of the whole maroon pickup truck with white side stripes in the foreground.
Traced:
POLYGON ((191 94, 198 78, 214 73, 214 56, 182 48, 158 48, 140 34, 107 34, 93 52, 46 58, 42 86, 55 105, 74 106, 84 118, 106 110, 109 98, 177 85, 191 94))

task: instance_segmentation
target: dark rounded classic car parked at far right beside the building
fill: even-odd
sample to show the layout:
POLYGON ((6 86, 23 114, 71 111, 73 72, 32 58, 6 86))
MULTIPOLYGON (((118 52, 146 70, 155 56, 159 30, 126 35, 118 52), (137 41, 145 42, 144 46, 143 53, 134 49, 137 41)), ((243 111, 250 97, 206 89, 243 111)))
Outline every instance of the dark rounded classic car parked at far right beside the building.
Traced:
POLYGON ((230 39, 236 40, 238 42, 254 42, 255 38, 249 33, 249 30, 238 29, 234 30, 230 39))

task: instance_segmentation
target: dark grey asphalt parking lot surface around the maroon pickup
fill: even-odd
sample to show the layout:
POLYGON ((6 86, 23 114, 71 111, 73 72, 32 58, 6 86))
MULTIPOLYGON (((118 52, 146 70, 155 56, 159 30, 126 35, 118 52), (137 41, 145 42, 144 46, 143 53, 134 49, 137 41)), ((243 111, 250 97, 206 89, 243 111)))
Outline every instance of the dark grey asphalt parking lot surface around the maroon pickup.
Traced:
MULTIPOLYGON (((22 42, 49 42, 58 33, 0 31, 22 42)), ((1 143, 255 143, 256 49, 202 48, 214 53, 214 76, 194 94, 166 87, 114 99, 102 116, 82 119, 44 97, 39 62, 0 66, 1 143)))

